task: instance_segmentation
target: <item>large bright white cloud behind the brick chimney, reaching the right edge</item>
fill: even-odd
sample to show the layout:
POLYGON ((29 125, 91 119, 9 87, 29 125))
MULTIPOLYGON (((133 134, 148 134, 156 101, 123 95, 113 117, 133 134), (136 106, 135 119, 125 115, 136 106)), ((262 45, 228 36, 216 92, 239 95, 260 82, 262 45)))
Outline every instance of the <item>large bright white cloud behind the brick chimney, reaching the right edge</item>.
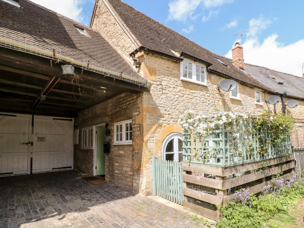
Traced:
MULTIPOLYGON (((245 63, 301 76, 304 61, 304 52, 302 51, 304 50, 304 39, 285 45, 278 42, 277 38, 277 34, 272 34, 262 43, 258 41, 257 37, 247 39, 243 43, 245 63)), ((231 50, 225 56, 232 58, 231 50)))

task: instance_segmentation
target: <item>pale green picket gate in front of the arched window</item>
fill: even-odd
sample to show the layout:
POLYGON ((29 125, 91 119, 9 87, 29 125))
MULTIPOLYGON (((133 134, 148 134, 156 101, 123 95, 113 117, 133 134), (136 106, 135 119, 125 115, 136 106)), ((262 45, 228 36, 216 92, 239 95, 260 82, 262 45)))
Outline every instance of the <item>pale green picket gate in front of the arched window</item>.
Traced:
POLYGON ((183 169, 177 161, 158 160, 152 156, 153 195, 183 205, 183 169))

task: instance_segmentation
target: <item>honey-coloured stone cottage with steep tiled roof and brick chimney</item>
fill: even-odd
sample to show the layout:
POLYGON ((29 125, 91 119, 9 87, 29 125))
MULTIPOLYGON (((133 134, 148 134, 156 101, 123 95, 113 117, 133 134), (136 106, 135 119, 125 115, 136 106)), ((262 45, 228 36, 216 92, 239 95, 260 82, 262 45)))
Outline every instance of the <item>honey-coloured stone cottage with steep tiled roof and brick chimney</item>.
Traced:
MULTIPOLYGON (((123 93, 82 110, 75 118, 79 129, 107 124, 105 142, 110 142, 110 153, 105 154, 105 179, 109 182, 151 194, 152 155, 181 159, 178 119, 189 109, 204 114, 273 110, 273 105, 266 102, 268 97, 282 96, 288 90, 286 101, 295 99, 299 106, 288 108, 287 114, 297 123, 304 123, 304 79, 282 73, 284 88, 272 86, 276 81, 271 80, 275 79, 266 82, 260 69, 275 71, 244 64, 238 44, 232 50, 232 60, 217 55, 120 0, 96 0, 90 28, 151 82, 150 92, 123 93), (297 93, 287 83, 291 77, 299 81, 297 93), (231 92, 220 90, 219 81, 224 79, 233 79, 237 87, 231 92)), ((79 137, 83 137, 81 133, 79 137)), ((74 168, 95 174, 94 151, 75 146, 74 168)))

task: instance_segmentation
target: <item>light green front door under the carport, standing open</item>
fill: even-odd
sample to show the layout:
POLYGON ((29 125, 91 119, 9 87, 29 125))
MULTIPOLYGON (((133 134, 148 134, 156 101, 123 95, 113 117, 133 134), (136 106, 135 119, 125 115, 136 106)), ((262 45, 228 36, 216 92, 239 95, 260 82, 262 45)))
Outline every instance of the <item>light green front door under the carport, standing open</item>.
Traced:
POLYGON ((97 127, 96 175, 105 175, 105 154, 103 153, 104 141, 105 141, 105 127, 97 127))

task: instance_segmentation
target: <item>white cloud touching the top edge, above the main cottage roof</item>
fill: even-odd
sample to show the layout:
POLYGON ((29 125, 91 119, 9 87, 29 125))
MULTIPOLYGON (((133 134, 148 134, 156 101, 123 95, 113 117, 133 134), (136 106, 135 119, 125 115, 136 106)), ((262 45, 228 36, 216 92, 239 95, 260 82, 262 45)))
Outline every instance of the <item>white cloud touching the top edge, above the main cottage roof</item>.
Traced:
POLYGON ((203 9, 219 7, 233 0, 173 0, 169 2, 168 20, 186 21, 188 18, 195 19, 195 10, 202 5, 203 9))

